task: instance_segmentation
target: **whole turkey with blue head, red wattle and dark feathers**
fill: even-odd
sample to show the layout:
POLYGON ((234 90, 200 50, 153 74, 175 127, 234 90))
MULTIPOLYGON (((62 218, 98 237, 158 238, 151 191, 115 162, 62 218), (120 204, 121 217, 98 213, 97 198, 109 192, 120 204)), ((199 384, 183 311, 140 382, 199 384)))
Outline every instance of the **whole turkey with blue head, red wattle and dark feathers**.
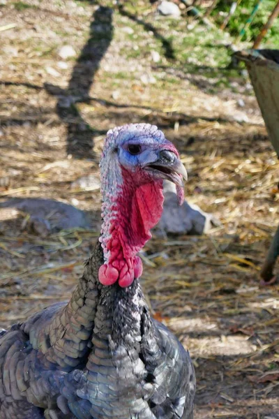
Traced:
POLYGON ((68 303, 0 332, 0 419, 193 418, 190 355, 151 318, 137 252, 186 170, 156 126, 110 130, 100 161, 103 225, 68 303))

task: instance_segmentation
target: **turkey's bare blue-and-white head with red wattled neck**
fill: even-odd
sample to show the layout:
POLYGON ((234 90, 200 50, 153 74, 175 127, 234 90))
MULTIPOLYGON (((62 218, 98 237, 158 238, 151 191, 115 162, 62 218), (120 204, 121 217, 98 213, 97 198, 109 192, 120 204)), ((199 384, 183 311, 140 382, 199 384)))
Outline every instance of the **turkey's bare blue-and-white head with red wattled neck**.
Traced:
POLYGON ((107 133, 100 174, 105 263, 98 277, 104 285, 119 281, 126 287, 142 274, 137 252, 162 214, 163 179, 176 184, 181 204, 187 172, 162 131, 150 124, 130 124, 107 133))

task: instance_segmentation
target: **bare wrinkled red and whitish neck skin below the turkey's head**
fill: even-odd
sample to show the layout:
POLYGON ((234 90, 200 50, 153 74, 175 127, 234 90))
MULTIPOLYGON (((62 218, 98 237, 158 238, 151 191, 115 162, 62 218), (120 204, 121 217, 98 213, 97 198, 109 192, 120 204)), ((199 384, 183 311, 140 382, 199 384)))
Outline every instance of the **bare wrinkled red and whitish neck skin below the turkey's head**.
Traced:
MULTIPOLYGON (((117 183, 114 175, 103 188, 103 225, 99 240, 105 263, 98 277, 103 285, 118 281, 119 286, 126 287, 142 274, 142 261, 137 252, 151 238, 150 230, 162 214, 163 181, 142 176, 139 182, 137 176, 135 186, 135 176, 123 168, 119 170, 122 182, 117 183)), ((114 174, 114 168, 110 172, 114 174)))

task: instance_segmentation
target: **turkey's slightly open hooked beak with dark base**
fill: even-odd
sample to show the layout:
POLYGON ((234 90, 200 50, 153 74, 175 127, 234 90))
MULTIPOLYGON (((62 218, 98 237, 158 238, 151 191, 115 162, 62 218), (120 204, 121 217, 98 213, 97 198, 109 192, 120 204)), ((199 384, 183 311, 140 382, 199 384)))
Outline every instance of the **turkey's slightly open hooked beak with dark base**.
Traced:
POLYGON ((146 170, 153 172, 157 177, 167 179, 183 188, 183 179, 187 180, 187 171, 179 158, 169 150, 161 150, 156 161, 148 163, 146 170))

